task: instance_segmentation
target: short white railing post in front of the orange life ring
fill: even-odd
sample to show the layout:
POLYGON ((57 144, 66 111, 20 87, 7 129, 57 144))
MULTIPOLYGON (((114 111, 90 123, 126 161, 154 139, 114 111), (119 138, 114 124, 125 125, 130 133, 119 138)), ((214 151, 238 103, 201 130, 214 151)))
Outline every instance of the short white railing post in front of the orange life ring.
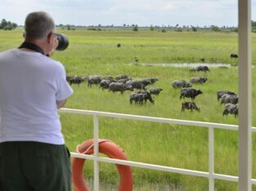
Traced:
POLYGON ((97 115, 93 115, 93 140, 94 140, 94 191, 100 190, 100 180, 99 180, 99 162, 97 158, 99 157, 99 118, 97 115))

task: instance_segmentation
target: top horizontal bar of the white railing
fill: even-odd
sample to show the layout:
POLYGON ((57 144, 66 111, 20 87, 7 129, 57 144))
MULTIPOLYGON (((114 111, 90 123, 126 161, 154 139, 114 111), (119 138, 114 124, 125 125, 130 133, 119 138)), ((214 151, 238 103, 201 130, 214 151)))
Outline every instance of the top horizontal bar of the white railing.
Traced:
MULTIPOLYGON (((195 126, 195 127, 213 127, 219 129, 227 129, 227 130, 238 130, 237 125, 229 125, 222 123, 214 123, 214 122, 197 122, 197 121, 188 121, 188 120, 180 120, 180 119, 171 119, 171 118, 155 118, 155 117, 147 117, 140 115, 132 115, 132 114, 124 114, 124 113, 109 113, 109 112, 100 112, 100 111, 91 111, 91 110, 82 110, 82 109, 60 109, 62 113, 77 113, 77 114, 89 114, 89 115, 97 115, 102 117, 109 118, 128 118, 135 119, 140 121, 147 122, 164 122, 164 123, 173 123, 179 125, 186 126, 195 126)), ((252 127, 252 131, 256 132, 256 127, 252 127)))

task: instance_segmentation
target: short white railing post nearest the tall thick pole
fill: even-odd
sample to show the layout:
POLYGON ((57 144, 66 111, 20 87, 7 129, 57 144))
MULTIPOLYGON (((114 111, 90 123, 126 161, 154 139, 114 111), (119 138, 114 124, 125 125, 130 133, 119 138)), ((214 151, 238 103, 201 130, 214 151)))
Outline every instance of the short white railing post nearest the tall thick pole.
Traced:
POLYGON ((214 129, 209 127, 209 191, 214 191, 214 129))

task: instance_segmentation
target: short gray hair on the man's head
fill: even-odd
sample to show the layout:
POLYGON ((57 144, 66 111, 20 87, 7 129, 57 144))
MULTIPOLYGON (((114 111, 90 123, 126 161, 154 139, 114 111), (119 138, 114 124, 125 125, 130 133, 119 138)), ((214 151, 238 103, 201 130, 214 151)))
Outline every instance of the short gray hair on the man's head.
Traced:
POLYGON ((31 12, 25 19, 25 38, 44 38, 53 29, 55 29, 54 20, 47 12, 31 12))

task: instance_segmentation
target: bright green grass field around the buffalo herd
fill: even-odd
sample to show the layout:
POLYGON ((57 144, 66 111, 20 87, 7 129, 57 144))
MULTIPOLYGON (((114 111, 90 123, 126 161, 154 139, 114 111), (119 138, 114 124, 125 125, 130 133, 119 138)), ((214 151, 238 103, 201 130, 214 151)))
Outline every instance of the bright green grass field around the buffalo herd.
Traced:
MULTIPOLYGON (((99 87, 88 88, 87 83, 73 85, 74 95, 70 97, 67 108, 89 109, 115 113, 131 113, 161 118, 177 118, 202 122, 220 122, 237 124, 234 116, 222 117, 221 106, 216 97, 218 90, 238 91, 237 68, 210 68, 210 73, 189 73, 189 68, 146 67, 138 63, 223 63, 236 66, 237 60, 231 59, 231 53, 237 53, 237 33, 210 32, 167 32, 157 31, 88 31, 59 30, 70 38, 70 47, 66 51, 56 52, 54 59, 60 60, 66 72, 71 75, 101 76, 127 74, 132 79, 159 78, 154 87, 164 91, 154 96, 155 104, 142 106, 129 104, 130 92, 111 93, 101 91, 99 87), (121 47, 116 45, 121 43, 121 47), (195 85, 204 93, 195 98, 200 113, 186 111, 181 113, 179 90, 171 83, 175 79, 189 80, 192 77, 207 77, 204 85, 195 85)), ((0 31, 0 51, 18 47, 22 41, 22 30, 0 31)), ((254 52, 256 36, 253 34, 253 64, 256 65, 254 52)), ((253 69, 253 84, 256 77, 253 69)), ((255 116, 255 94, 253 86, 253 116, 255 116)), ((63 134, 66 144, 74 151, 77 144, 92 138, 92 117, 74 114, 61 114, 63 134)), ((256 127, 256 118, 253 118, 256 127)), ((137 162, 182 167, 197 171, 208 171, 208 130, 202 127, 184 127, 177 125, 138 122, 114 118, 100 118, 100 137, 113 140, 124 149, 128 158, 137 162)), ((217 173, 237 175, 237 132, 214 131, 215 169, 217 173)), ((255 135, 253 136, 255 145, 255 135)), ((253 151, 253 177, 256 178, 256 149, 253 151)), ((84 169, 88 180, 92 180, 92 162, 84 169)), ((208 190, 208 180, 189 175, 142 170, 132 168, 134 190, 208 190)), ((116 190, 118 173, 115 166, 101 164, 101 190, 116 190), (106 189, 108 188, 108 189, 106 189)), ((216 190, 237 190, 237 184, 227 181, 215 181, 216 190)), ((256 190, 256 187, 254 187, 256 190)))

